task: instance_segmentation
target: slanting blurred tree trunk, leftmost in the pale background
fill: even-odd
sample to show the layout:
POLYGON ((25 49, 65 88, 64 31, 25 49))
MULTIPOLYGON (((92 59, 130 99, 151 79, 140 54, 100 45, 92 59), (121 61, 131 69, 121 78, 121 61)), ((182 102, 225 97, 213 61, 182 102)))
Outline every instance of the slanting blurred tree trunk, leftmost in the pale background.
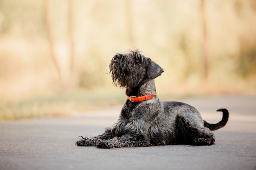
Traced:
POLYGON ((61 76, 61 70, 60 67, 58 66, 58 62, 54 53, 54 41, 53 41, 53 36, 52 36, 52 31, 51 31, 51 21, 49 19, 49 0, 44 0, 44 11, 45 11, 45 26, 46 26, 46 31, 47 31, 47 38, 49 42, 49 50, 50 50, 50 57, 52 58, 52 61, 54 62, 54 66, 56 69, 56 72, 58 74, 58 78, 62 80, 61 76))

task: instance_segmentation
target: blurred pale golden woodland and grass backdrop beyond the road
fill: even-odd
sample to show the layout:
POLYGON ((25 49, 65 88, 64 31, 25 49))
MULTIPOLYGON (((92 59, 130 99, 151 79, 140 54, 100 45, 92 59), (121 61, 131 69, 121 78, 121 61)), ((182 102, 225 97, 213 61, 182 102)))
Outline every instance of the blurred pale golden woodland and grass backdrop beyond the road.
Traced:
POLYGON ((161 100, 256 93, 255 0, 0 0, 0 120, 122 104, 115 53, 164 73, 161 100))

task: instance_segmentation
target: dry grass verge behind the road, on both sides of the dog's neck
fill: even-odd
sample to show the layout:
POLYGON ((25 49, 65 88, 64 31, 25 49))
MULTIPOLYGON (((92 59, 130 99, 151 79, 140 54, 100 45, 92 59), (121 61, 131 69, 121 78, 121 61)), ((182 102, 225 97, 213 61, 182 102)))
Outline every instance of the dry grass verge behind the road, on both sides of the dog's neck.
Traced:
MULTIPOLYGON (((158 85, 158 83, 157 83, 158 85)), ((243 89, 218 86, 172 86, 158 88, 160 100, 180 100, 194 96, 223 95, 245 93, 243 89)), ((247 91, 247 93, 254 93, 247 91)), ((94 90, 75 90, 51 95, 39 95, 13 102, 0 102, 0 121, 27 119, 34 117, 52 117, 63 115, 80 115, 88 110, 103 109, 122 105, 126 100, 125 89, 101 88, 94 90)))

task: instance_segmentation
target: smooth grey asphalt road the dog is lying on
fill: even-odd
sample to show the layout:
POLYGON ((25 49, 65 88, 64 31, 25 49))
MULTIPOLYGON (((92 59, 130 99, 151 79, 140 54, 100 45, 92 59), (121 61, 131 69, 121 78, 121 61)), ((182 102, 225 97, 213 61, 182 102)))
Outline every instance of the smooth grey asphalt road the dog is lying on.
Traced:
POLYGON ((204 120, 228 124, 213 146, 152 146, 97 149, 77 147, 79 135, 101 134, 115 123, 121 106, 72 117, 0 123, 0 170, 256 170, 256 96, 229 95, 181 100, 204 120))

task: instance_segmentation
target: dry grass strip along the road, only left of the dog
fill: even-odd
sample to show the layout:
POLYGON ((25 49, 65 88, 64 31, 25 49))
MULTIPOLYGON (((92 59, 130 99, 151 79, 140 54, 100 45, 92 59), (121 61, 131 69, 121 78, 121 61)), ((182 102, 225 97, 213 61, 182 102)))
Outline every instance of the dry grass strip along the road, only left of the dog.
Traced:
POLYGON ((92 109, 122 104, 124 93, 112 95, 106 89, 76 90, 62 94, 40 95, 16 102, 0 102, 0 121, 45 116, 77 115, 92 109))

